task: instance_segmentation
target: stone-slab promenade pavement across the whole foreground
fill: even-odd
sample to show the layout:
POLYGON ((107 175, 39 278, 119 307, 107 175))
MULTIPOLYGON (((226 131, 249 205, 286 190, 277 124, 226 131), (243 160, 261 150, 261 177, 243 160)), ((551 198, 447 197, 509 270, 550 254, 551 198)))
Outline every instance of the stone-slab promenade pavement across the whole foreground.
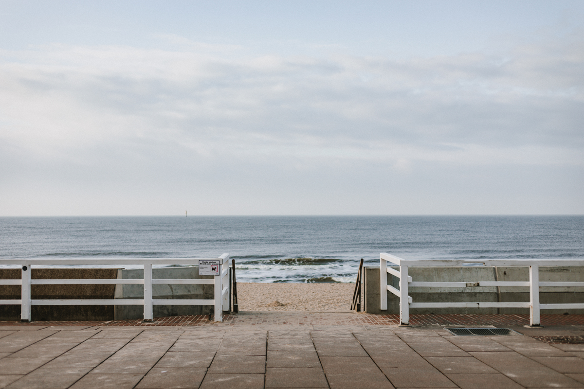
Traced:
POLYGON ((507 318, 505 328, 519 333, 486 337, 370 324, 359 313, 237 316, 195 325, 2 323, 0 388, 584 388, 581 315, 571 318, 579 325, 545 328, 507 318))

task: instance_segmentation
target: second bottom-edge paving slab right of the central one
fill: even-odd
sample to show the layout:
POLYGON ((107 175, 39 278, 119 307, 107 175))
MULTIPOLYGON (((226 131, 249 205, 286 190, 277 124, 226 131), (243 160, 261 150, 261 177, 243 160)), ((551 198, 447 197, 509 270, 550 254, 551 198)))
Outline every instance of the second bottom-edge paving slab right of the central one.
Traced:
POLYGON ((381 371, 396 388, 456 388, 448 377, 438 370, 397 369, 380 366, 381 371))

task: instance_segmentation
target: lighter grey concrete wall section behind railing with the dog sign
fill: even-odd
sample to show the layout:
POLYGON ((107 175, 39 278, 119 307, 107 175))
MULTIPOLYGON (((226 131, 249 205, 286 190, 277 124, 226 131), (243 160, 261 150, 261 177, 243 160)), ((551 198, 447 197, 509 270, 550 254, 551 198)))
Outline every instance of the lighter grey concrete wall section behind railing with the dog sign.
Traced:
MULTIPOLYGON (((117 278, 141 279, 143 269, 120 269, 117 278)), ((199 267, 152 269, 155 279, 213 279, 211 275, 199 275, 199 267)), ((116 299, 143 299, 144 285, 116 285, 116 299)), ((154 299, 214 299, 213 285, 152 285, 154 299)), ((202 305, 155 305, 154 317, 206 315, 213 313, 213 306, 202 305)), ((142 305, 116 305, 114 320, 131 320, 144 318, 142 305)))

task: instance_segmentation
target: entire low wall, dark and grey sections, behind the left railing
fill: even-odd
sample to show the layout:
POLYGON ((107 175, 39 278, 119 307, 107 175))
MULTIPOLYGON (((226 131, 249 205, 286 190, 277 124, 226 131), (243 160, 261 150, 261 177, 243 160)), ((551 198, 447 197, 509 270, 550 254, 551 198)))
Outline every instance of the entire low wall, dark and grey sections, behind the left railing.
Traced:
MULTIPOLYGON (((137 279, 142 269, 32 269, 33 279, 137 279)), ((0 279, 20 279, 20 269, 0 269, 0 279)), ((152 278, 213 279, 199 276, 198 267, 152 269, 152 278)), ((142 299, 143 285, 32 285, 32 299, 142 299)), ((154 299, 214 299, 213 285, 153 285, 154 299)), ((20 300, 20 285, 0 285, 0 300, 20 300)), ((154 317, 213 313, 213 306, 155 305, 154 317)), ((124 320, 144 317, 144 306, 33 305, 34 321, 124 320)), ((0 320, 20 320, 20 305, 0 305, 0 320)))

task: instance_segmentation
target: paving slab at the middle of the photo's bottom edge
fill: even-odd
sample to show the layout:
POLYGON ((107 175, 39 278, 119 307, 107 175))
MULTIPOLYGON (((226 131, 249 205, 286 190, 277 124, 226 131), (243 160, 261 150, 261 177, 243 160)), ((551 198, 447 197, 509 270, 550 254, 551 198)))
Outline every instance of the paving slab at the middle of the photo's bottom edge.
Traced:
POLYGON ((268 367, 267 388, 326 388, 325 374, 320 367, 268 367))

